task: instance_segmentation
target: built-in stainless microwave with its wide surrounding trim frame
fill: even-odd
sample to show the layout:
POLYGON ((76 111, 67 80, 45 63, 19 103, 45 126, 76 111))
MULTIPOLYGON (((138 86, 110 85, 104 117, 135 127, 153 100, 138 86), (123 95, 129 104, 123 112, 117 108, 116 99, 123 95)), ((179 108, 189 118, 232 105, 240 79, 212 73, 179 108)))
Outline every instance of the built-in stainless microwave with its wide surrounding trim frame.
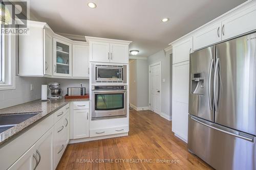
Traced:
POLYGON ((126 65, 92 64, 92 83, 126 83, 126 65))

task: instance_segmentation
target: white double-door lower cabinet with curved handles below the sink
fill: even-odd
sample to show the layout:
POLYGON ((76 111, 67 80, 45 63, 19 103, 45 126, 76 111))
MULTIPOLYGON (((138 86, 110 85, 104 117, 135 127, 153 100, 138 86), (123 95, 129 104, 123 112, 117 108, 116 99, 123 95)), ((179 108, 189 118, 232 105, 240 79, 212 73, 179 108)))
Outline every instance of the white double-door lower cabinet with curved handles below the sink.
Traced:
POLYGON ((8 169, 53 170, 53 128, 51 128, 44 136, 42 136, 8 169))

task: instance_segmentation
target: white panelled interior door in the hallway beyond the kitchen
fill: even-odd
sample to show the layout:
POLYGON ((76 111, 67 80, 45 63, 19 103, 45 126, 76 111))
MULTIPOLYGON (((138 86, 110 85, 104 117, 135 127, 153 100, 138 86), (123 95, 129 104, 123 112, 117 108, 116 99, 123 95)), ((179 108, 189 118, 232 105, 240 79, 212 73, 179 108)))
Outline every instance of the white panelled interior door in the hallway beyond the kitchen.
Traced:
POLYGON ((160 114, 161 65, 150 66, 150 109, 160 114))

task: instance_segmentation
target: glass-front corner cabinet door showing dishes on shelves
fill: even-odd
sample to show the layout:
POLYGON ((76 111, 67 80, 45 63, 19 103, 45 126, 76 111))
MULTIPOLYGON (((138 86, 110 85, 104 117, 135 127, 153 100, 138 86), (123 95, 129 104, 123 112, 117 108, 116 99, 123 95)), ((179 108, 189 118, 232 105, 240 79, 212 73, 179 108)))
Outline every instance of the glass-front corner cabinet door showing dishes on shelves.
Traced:
POLYGON ((72 76, 72 45, 53 38, 53 75, 72 76))

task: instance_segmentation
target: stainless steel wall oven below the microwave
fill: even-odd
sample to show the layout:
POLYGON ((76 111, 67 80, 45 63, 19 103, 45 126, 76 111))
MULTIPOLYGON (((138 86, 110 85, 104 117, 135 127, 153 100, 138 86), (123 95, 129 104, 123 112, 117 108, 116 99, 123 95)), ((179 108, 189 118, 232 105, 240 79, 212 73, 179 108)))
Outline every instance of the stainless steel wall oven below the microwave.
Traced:
POLYGON ((92 85, 92 120, 126 117, 126 85, 92 85))

